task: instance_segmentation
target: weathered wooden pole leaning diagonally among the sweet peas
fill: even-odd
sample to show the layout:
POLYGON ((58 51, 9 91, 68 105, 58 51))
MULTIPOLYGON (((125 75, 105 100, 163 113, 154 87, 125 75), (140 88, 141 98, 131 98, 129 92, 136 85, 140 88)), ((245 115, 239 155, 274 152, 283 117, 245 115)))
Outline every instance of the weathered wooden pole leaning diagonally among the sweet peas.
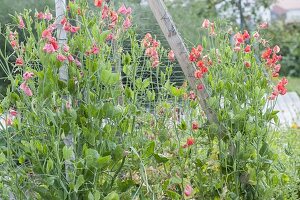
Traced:
POLYGON ((196 70, 195 66, 189 61, 189 53, 186 46, 183 43, 179 32, 176 30, 175 23, 168 13, 167 8, 162 0, 148 0, 150 9, 153 12, 164 36, 166 37, 170 47, 174 51, 174 54, 178 60, 178 63, 189 82, 191 88, 196 91, 200 106, 205 112, 205 115, 210 123, 217 123, 217 117, 214 115, 212 110, 209 108, 207 99, 209 97, 205 87, 202 91, 197 90, 197 80, 194 77, 196 70))

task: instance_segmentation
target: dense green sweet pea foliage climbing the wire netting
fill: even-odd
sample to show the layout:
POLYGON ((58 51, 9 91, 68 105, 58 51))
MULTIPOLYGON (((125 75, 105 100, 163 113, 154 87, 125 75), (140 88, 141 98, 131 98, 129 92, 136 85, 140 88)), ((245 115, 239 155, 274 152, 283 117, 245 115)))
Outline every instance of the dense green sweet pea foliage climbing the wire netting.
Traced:
MULTIPOLYGON (((162 62, 168 51, 154 47, 151 35, 149 48, 146 37, 141 42, 134 28, 124 29, 126 16, 119 14, 111 28, 112 19, 103 20, 99 8, 88 10, 85 0, 70 2, 70 8, 68 20, 76 19, 80 30, 68 33, 69 51, 46 53, 49 38, 41 33, 53 21, 25 12, 25 24, 32 28, 18 33, 24 34, 24 51, 16 48, 13 61, 7 59, 15 71, 0 65, 10 82, 0 104, 5 119, 1 197, 297 199, 299 180, 292 173, 299 163, 286 163, 298 154, 290 148, 278 152, 275 139, 281 138, 271 134, 277 111, 266 97, 272 92, 262 69, 266 64, 254 56, 259 48, 234 51, 222 23, 215 23, 216 35, 202 38, 201 59, 208 67, 202 81, 217 117, 212 123, 203 116, 195 91, 171 82, 173 63, 162 62), (60 62, 59 54, 73 55, 81 65, 60 62), (17 57, 24 66, 15 65, 17 57), (155 59, 161 61, 157 67, 155 59), (67 82, 58 75, 62 65, 68 68, 67 82), (32 77, 25 80, 26 72, 32 77), (32 95, 20 87, 24 83, 32 95), (190 194, 187 186, 193 188, 190 194)), ((6 27, 7 40, 16 29, 6 27)), ((254 38, 249 42, 260 47, 254 38)))

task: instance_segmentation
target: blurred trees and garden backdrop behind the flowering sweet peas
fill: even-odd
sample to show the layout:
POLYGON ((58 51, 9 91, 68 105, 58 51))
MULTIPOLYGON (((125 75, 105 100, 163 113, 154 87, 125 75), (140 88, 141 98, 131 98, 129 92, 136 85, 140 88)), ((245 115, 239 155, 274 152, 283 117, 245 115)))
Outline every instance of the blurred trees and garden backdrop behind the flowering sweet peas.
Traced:
MULTIPOLYGON (((12 22, 11 14, 24 9, 43 11, 45 7, 54 11, 55 0, 0 0, 1 33, 4 24, 12 22)), ((90 0, 92 3, 92 0, 90 0)), ((258 23, 269 23, 269 43, 281 47, 282 76, 289 76, 289 90, 300 94, 300 0, 164 0, 179 32, 188 47, 201 43, 200 27, 203 19, 228 19, 240 30, 255 30, 258 23), (200 34, 199 34, 200 33, 200 34)), ((139 34, 156 34, 166 45, 166 41, 149 9, 147 0, 114 0, 135 9, 134 20, 139 26, 139 34)), ((32 12, 34 14, 34 12, 32 12)), ((53 12, 53 14, 55 14, 53 12)), ((4 38, 0 38, 1 51, 5 50, 4 38)), ((12 49, 6 49, 7 53, 12 49)), ((184 79, 180 69, 175 70, 179 79, 184 79)), ((0 93, 5 92, 7 82, 0 70, 0 93)), ((1 96, 0 96, 1 99, 1 96)))

